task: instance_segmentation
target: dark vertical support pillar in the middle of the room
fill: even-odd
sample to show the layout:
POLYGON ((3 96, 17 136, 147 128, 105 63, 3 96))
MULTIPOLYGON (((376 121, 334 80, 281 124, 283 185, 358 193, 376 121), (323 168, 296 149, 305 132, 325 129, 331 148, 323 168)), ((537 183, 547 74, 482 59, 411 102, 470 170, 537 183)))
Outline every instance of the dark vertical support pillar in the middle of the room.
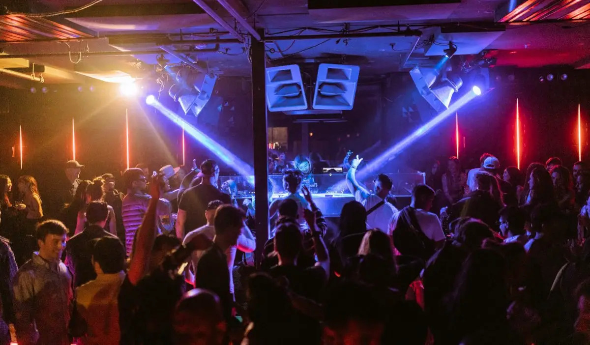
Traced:
MULTIPOLYGON (((260 30, 260 35, 264 31, 260 30)), ((254 132, 254 192, 256 195, 256 262, 260 265, 264 244, 268 240, 268 163, 267 114, 264 90, 266 53, 264 42, 253 41, 252 56, 252 111, 254 132)))

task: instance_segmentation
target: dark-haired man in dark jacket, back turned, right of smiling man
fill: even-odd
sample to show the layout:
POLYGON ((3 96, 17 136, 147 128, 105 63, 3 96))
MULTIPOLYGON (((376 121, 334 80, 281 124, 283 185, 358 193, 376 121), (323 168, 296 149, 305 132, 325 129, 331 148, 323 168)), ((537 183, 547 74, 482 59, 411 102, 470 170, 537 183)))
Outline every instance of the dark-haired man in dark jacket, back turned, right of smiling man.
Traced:
POLYGON ((86 208, 88 225, 82 232, 71 237, 65 246, 65 264, 74 276, 74 287, 96 279, 91 262, 95 240, 104 237, 116 238, 116 235, 104 229, 109 219, 108 207, 103 201, 90 202, 86 208))

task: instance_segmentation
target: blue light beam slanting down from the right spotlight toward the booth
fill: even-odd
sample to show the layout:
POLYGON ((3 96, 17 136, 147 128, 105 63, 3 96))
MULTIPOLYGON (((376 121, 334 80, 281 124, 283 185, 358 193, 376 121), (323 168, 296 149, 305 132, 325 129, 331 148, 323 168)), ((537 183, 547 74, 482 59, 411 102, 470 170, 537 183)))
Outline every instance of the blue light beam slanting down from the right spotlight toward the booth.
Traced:
MULTIPOLYGON (((381 167, 385 166, 386 163, 388 163, 390 160, 392 160, 396 156, 398 156, 399 153, 401 153, 403 150, 407 149, 408 146, 413 144, 420 137, 424 136, 424 134, 430 132, 434 127, 441 124, 442 121, 447 119, 447 117, 455 114, 459 109, 461 109, 461 107, 463 107, 465 104, 469 103, 469 101, 473 100, 473 98, 475 98, 477 96, 478 96, 478 94, 476 92, 474 92, 473 90, 471 90, 469 93, 467 93, 463 97, 459 98, 456 102, 451 104, 451 106, 447 110, 442 111, 442 113, 438 114, 432 120, 423 124, 421 127, 419 127, 417 130, 415 130, 413 133, 409 134, 409 136, 405 137, 401 142, 398 142, 394 146, 389 147, 389 149, 387 149, 381 155, 379 155, 375 159, 371 160, 371 162, 369 162, 367 165, 365 165, 365 167, 363 167, 363 169, 360 169, 356 173, 356 178, 362 180, 362 179, 366 178, 366 176, 368 176, 369 174, 375 172, 377 169, 380 169, 381 167)), ((343 180, 343 181, 338 182, 332 188, 334 190, 341 190, 341 189, 345 188, 345 186, 346 186, 346 181, 343 180)))

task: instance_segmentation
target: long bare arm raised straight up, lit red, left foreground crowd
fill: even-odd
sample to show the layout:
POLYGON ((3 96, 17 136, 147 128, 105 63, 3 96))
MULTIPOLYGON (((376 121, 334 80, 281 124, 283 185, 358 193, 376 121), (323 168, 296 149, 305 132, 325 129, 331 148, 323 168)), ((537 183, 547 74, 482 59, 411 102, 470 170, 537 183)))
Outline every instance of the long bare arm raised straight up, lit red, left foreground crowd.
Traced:
POLYGON ((133 285, 136 285, 145 275, 150 252, 152 252, 153 243, 156 239, 156 209, 160 198, 160 182, 162 182, 161 175, 152 176, 152 182, 150 183, 150 196, 152 198, 148 202, 148 211, 143 216, 142 225, 137 229, 135 252, 131 257, 129 272, 127 273, 127 277, 129 277, 129 281, 133 285))

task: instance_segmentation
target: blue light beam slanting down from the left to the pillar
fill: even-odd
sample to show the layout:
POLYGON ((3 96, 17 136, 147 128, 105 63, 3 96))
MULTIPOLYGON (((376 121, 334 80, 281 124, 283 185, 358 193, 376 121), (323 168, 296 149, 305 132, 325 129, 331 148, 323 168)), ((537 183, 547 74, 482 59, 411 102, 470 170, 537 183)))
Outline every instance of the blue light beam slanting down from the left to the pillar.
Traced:
POLYGON ((247 178, 248 182, 254 184, 254 168, 245 163, 243 160, 235 156, 230 150, 223 147, 221 144, 217 143, 215 140, 211 139, 211 137, 207 136, 207 134, 201 132, 200 130, 196 129, 195 126, 188 123, 186 120, 182 119, 182 117, 178 116, 174 111, 166 108, 160 103, 158 100, 154 98, 150 98, 149 105, 156 108, 160 113, 164 116, 168 117, 173 123, 178 124, 181 126, 186 134, 194 137, 198 140, 201 144, 203 144, 209 151, 211 151, 215 156, 222 160, 225 164, 231 166, 236 172, 240 175, 247 178))

